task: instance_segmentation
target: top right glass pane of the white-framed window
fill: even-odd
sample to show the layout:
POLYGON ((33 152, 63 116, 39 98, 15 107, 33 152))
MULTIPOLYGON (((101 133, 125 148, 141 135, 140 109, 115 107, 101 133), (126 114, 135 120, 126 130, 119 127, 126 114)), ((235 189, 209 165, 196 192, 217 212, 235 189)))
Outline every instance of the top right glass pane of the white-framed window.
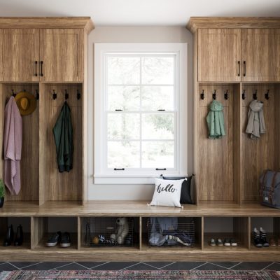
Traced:
POLYGON ((143 57, 142 84, 172 85, 174 83, 173 57, 143 57))

